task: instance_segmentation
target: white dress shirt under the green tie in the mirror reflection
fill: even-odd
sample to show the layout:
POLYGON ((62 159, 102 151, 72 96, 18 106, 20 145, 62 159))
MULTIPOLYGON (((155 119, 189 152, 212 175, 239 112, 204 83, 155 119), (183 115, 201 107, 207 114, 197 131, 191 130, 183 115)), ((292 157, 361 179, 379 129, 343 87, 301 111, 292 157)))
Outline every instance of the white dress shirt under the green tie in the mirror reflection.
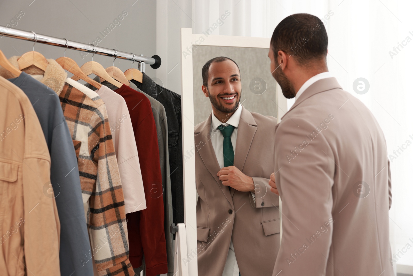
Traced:
MULTIPOLYGON (((231 134, 231 143, 233 145, 235 154, 235 144, 237 143, 238 124, 240 123, 242 106, 239 105, 234 114, 225 123, 215 117, 214 112, 211 118, 211 143, 214 148, 216 159, 220 168, 224 167, 224 136, 221 131, 217 129, 220 125, 233 125, 235 129, 231 134)), ((217 172, 218 173, 218 172, 217 172)), ((234 245, 231 238, 230 249, 228 250, 227 259, 222 276, 238 276, 240 269, 238 268, 237 259, 235 259, 234 245)))

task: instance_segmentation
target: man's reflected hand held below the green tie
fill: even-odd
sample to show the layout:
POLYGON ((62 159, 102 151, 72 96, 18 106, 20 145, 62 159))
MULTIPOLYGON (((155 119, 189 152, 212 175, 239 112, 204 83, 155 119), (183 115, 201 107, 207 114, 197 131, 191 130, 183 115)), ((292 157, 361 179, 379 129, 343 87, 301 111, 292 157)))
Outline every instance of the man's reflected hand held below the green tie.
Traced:
POLYGON ((254 180, 248 175, 244 175, 235 166, 223 167, 216 174, 222 184, 233 187, 240 192, 254 192, 254 180))

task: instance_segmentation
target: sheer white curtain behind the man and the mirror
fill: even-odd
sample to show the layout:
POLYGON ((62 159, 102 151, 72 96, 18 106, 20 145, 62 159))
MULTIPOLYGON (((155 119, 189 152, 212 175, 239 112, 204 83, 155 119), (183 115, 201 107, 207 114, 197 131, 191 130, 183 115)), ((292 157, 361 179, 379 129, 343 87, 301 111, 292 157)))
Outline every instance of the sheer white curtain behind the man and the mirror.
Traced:
POLYGON ((390 242, 398 272, 413 274, 413 2, 192 0, 192 32, 214 29, 226 11, 230 15, 218 22, 213 34, 271 38, 275 26, 290 14, 323 19, 329 71, 370 108, 385 133, 392 160, 390 242), (353 89, 360 77, 370 86, 365 94, 353 89))

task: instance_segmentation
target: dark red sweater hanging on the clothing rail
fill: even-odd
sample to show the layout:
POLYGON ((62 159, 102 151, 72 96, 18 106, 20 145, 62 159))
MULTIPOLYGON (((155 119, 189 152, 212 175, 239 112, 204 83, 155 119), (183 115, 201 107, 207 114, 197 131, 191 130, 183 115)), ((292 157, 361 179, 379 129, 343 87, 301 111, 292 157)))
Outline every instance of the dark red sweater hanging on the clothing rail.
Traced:
POLYGON ((126 214, 129 260, 137 268, 145 255, 147 276, 168 273, 161 166, 151 104, 144 94, 125 84, 115 92, 125 99, 131 116, 147 206, 142 211, 126 214))

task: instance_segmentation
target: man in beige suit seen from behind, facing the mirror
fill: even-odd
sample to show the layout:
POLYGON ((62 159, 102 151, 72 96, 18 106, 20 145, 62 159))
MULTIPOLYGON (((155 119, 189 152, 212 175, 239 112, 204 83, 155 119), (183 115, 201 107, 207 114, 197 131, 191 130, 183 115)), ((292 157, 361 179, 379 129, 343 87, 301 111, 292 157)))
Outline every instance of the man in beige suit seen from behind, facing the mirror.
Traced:
POLYGON ((275 130, 269 184, 283 220, 273 276, 394 275, 385 137, 328 72, 327 45, 310 14, 286 17, 271 38, 273 77, 286 98, 295 96, 275 130))

